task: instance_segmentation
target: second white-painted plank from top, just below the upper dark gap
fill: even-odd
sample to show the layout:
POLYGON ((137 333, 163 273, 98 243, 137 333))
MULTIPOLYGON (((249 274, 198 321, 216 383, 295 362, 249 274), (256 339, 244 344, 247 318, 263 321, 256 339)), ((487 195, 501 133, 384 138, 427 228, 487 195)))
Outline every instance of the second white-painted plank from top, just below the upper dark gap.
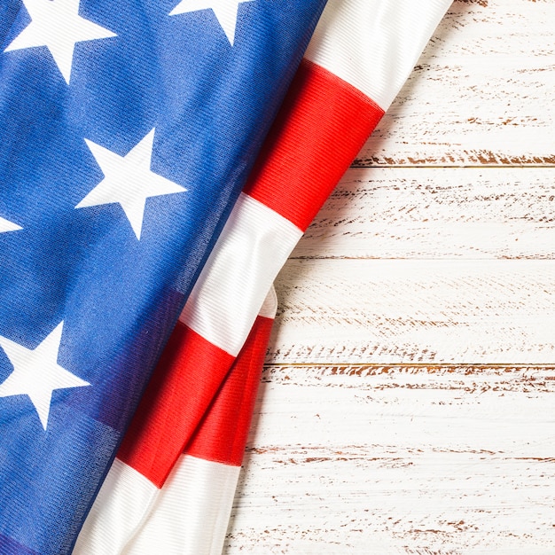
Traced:
POLYGON ((555 258, 555 170, 351 168, 300 257, 555 258))

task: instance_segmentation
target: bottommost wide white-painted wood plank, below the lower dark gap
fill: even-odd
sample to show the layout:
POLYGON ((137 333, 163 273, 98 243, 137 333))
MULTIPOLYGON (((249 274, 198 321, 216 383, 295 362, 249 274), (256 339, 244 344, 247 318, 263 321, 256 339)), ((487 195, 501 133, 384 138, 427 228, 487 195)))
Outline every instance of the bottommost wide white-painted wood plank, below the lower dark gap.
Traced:
POLYGON ((227 555, 552 553, 553 368, 271 367, 227 555))

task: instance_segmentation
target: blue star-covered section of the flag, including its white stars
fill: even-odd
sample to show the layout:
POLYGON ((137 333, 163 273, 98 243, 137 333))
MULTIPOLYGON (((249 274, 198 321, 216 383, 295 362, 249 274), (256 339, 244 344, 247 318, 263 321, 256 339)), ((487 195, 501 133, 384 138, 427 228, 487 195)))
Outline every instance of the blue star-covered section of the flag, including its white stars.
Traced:
POLYGON ((68 553, 324 0, 0 6, 0 553, 68 553))

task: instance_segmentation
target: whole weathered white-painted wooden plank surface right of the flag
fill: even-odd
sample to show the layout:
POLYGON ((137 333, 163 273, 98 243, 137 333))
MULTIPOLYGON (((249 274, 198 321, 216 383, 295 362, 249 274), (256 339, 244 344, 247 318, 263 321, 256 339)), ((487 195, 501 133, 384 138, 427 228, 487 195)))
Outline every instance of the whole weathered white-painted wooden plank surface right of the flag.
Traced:
POLYGON ((458 0, 277 279, 225 553, 555 553, 555 1, 458 0))

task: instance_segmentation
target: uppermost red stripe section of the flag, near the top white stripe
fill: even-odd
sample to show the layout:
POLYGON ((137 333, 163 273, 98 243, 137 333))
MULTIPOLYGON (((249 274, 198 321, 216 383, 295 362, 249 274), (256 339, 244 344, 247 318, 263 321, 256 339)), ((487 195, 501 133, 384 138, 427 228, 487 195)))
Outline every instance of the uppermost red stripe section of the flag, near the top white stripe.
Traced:
POLYGON ((244 192, 305 231, 384 111, 303 60, 244 192))

